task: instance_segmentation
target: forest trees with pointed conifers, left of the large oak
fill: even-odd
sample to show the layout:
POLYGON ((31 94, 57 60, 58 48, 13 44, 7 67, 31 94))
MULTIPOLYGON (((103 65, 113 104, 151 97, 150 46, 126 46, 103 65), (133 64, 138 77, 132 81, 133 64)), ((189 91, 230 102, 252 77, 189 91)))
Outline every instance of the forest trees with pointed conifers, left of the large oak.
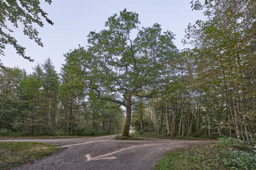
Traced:
POLYGON ((2 135, 93 135, 123 128, 122 109, 84 90, 64 65, 61 74, 48 58, 34 72, 0 70, 2 135))

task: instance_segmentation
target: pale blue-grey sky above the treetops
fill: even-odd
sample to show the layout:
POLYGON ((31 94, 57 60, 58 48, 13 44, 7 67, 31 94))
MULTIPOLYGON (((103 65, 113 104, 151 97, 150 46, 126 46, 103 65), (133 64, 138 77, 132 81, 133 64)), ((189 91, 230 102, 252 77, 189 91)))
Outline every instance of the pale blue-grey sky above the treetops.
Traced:
POLYGON ((184 38, 185 29, 189 22, 195 23, 204 19, 202 12, 191 11, 191 0, 53 0, 52 4, 43 2, 42 6, 54 25, 45 23, 39 28, 39 37, 42 38, 44 47, 40 47, 23 36, 21 30, 15 32, 15 37, 22 46, 26 47, 26 55, 31 56, 35 62, 30 63, 17 55, 12 47, 7 47, 5 56, 0 56, 4 66, 18 66, 20 69, 33 71, 36 63, 43 63, 50 57, 55 69, 59 72, 65 63, 63 54, 70 49, 86 46, 86 36, 90 31, 104 29, 107 18, 114 13, 133 11, 139 14, 141 27, 151 27, 153 23, 162 25, 163 31, 170 30, 176 36, 174 44, 183 49, 181 40, 184 38))

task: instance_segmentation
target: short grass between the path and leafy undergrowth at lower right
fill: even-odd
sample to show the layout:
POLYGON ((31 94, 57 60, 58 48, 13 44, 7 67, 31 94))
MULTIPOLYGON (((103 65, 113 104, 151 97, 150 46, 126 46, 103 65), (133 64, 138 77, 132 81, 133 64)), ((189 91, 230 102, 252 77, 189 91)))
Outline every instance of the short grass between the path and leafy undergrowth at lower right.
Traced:
POLYGON ((207 144, 170 151, 156 166, 157 170, 226 169, 219 163, 220 148, 207 144))

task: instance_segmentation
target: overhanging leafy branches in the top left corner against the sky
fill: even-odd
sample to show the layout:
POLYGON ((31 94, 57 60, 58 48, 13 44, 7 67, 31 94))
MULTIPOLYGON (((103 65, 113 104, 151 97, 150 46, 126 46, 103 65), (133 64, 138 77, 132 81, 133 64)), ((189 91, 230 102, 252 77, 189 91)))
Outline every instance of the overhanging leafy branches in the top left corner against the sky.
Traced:
MULTIPOLYGON (((51 0, 45 0, 45 2, 51 4, 51 0)), ((34 28, 34 24, 43 27, 42 18, 50 24, 53 24, 53 22, 47 17, 47 13, 43 11, 40 5, 40 0, 0 1, 0 55, 4 55, 6 45, 11 45, 23 58, 30 62, 34 61, 25 55, 26 48, 18 44, 15 37, 11 35, 13 30, 7 22, 13 24, 15 28, 18 28, 21 24, 24 35, 34 40, 39 46, 43 46, 41 38, 38 38, 38 31, 34 28)))

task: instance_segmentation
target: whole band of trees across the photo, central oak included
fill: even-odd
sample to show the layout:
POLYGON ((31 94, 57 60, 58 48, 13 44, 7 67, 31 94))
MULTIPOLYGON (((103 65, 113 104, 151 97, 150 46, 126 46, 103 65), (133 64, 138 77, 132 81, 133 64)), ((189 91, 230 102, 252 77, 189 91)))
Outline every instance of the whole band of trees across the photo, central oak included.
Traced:
MULTIPOLYGON (((205 21, 189 24, 179 50, 161 25, 114 14, 88 46, 66 53, 61 73, 47 59, 34 72, 1 67, 1 133, 122 131, 256 136, 256 3, 191 2, 205 21), (132 32, 137 32, 134 36, 132 32)), ((171 29, 171 28, 170 28, 171 29)))

